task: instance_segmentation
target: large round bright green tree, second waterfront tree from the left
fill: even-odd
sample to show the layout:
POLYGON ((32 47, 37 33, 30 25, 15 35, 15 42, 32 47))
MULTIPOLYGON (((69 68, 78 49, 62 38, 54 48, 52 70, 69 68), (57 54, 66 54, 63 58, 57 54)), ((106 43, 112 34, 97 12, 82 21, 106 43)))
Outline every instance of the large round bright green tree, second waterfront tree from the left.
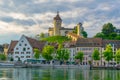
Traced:
POLYGON ((47 45, 43 48, 43 51, 42 51, 42 56, 47 60, 47 61, 50 61, 53 59, 53 54, 54 52, 54 47, 53 46, 50 46, 50 45, 47 45))

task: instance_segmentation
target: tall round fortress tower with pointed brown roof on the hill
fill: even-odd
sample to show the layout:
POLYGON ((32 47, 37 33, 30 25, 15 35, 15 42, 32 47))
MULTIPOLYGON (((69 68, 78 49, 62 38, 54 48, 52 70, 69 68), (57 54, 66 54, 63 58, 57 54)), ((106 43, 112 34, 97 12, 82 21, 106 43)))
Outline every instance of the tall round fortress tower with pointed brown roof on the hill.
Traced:
POLYGON ((62 24, 62 19, 59 16, 59 12, 57 12, 57 15, 54 17, 53 24, 54 24, 54 36, 60 35, 60 28, 61 28, 61 24, 62 24))

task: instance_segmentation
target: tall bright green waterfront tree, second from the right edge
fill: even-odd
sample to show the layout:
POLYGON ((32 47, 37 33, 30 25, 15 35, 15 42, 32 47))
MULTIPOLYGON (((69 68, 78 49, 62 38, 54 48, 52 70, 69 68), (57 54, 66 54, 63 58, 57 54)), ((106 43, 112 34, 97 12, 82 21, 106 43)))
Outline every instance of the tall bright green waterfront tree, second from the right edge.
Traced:
POLYGON ((113 59, 113 51, 111 45, 107 45, 105 51, 103 52, 103 56, 106 61, 110 61, 113 59))

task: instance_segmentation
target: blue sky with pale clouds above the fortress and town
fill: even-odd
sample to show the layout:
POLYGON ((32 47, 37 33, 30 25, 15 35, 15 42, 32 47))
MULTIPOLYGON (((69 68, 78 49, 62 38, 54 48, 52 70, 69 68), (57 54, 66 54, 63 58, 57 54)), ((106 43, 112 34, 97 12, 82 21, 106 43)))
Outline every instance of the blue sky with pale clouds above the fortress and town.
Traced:
POLYGON ((81 22, 88 37, 108 22, 120 29, 120 0, 0 0, 0 44, 47 33, 57 11, 62 27, 81 22))

